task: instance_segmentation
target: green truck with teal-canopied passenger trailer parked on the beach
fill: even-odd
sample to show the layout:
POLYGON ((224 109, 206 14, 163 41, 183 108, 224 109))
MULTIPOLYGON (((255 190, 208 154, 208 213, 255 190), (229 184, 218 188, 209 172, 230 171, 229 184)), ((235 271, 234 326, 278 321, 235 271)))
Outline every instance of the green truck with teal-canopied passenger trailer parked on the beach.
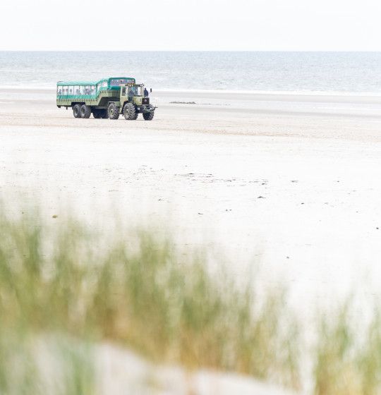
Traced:
POLYGON ((152 121, 156 107, 144 95, 144 85, 135 78, 111 77, 97 82, 59 81, 57 107, 73 109, 74 118, 118 119, 123 114, 127 120, 143 114, 145 121, 152 121))

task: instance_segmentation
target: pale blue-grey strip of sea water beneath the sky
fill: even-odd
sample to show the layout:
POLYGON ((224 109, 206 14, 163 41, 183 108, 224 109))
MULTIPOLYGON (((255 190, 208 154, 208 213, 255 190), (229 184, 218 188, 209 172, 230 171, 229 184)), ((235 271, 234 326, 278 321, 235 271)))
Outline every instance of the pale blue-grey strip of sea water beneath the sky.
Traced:
POLYGON ((132 76, 153 89, 381 94, 380 52, 8 52, 0 86, 132 76))

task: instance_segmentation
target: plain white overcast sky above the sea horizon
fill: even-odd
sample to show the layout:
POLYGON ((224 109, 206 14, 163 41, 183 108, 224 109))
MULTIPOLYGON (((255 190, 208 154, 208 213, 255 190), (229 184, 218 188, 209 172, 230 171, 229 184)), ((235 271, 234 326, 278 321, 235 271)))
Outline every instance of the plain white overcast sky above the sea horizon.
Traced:
POLYGON ((0 0, 0 50, 381 51, 380 0, 0 0))

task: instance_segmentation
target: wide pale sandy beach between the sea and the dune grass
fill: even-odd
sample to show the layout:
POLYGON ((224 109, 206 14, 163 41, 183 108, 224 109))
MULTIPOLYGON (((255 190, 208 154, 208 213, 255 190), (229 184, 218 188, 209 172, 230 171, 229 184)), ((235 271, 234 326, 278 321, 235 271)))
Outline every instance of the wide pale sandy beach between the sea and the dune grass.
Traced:
MULTIPOLYGON (((380 284, 381 97, 153 92, 151 122, 74 119, 0 90, 0 198, 102 224, 163 224, 291 300, 380 284), (186 104, 195 103, 195 104, 186 104)), ((301 302, 303 300, 303 302, 301 302)))

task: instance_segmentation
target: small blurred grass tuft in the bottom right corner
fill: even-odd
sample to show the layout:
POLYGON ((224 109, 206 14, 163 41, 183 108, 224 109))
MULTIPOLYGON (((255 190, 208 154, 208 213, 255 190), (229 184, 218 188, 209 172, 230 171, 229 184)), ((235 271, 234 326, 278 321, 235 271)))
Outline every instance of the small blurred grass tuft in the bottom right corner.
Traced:
POLYGON ((315 395, 381 393, 381 320, 375 307, 367 324, 346 301, 320 315, 315 358, 315 395))

